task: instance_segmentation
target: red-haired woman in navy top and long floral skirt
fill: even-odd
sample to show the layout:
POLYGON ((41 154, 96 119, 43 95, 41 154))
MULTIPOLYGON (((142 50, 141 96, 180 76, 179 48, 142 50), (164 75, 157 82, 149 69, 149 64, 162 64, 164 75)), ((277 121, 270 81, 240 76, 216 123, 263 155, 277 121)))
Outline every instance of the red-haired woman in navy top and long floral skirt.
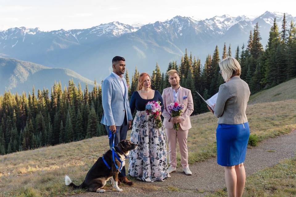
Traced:
MULTIPOLYGON (((163 127, 158 128, 154 118, 146 111, 146 103, 160 101, 161 111, 163 102, 161 94, 151 89, 150 76, 141 73, 138 79, 138 91, 130 98, 130 109, 134 118, 130 140, 138 144, 129 155, 129 175, 145 182, 164 181, 170 175, 167 172, 167 145, 163 127)), ((161 113, 159 113, 159 116, 161 113)))

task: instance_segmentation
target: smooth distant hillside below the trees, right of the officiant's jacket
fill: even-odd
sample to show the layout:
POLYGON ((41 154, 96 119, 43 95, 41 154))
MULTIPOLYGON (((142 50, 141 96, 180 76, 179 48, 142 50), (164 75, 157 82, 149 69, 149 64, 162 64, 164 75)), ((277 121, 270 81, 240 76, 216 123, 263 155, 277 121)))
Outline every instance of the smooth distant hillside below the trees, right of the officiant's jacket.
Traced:
POLYGON ((296 78, 250 96, 249 104, 296 98, 296 78))

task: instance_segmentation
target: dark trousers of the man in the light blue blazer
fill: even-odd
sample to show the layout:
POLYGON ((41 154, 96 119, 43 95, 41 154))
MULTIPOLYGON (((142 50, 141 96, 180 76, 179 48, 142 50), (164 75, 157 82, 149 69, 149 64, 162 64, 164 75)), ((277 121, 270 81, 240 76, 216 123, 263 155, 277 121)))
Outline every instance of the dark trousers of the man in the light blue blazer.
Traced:
MULTIPOLYGON (((108 136, 109 136, 109 126, 105 125, 105 128, 108 132, 108 136)), ((128 129, 128 123, 127 123, 127 119, 126 119, 126 114, 124 117, 124 121, 122 123, 121 126, 116 126, 116 129, 118 131, 118 133, 115 134, 115 139, 114 139, 114 146, 117 146, 117 144, 121 141, 126 139, 126 134, 127 134, 127 129, 128 129)), ((109 146, 110 148, 112 147, 113 144, 113 134, 112 137, 109 139, 109 146)), ((119 166, 118 166, 119 167, 119 166)), ((125 177, 125 167, 122 168, 121 172, 118 174, 118 177, 125 177)))

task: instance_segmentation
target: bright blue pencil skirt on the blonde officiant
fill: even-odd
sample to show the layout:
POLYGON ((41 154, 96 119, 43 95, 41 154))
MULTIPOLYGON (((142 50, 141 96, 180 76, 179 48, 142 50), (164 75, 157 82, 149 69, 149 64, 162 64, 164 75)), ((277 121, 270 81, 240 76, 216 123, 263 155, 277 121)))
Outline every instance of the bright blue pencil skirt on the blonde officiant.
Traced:
POLYGON ((243 163, 250 135, 249 123, 218 124, 216 129, 217 163, 235 166, 243 163))

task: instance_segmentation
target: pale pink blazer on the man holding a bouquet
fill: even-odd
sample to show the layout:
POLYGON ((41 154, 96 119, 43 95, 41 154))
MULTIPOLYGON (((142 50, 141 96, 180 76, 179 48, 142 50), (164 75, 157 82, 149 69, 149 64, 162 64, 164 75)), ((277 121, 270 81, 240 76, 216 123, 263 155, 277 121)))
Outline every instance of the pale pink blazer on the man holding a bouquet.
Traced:
MULTIPOLYGON (((171 87, 168 87, 162 91, 162 99, 163 99, 163 107, 164 107, 164 110, 162 112, 162 116, 164 117, 163 127, 167 129, 172 129, 174 126, 174 123, 169 122, 169 119, 171 118, 171 114, 169 111, 167 111, 167 105, 170 103, 174 103, 174 94, 171 87)), ((181 119, 180 127, 184 131, 188 130, 191 128, 190 115, 193 112, 193 99, 192 99, 191 90, 180 86, 176 102, 185 105, 185 109, 183 109, 183 113, 180 115, 180 119, 181 119)))

